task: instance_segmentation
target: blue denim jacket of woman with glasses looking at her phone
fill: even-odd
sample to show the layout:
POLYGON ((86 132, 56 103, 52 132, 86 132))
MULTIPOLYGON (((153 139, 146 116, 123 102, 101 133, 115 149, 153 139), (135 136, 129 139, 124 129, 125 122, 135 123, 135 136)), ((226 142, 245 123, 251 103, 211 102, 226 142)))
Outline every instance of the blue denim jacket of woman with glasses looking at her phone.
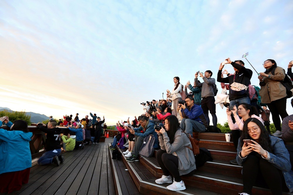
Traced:
MULTIPOLYGON (((280 138, 270 136, 271 140, 271 146, 273 149, 273 153, 268 152, 268 159, 272 165, 274 165, 277 169, 281 170, 284 178, 286 185, 289 189, 290 192, 293 191, 293 171, 291 170, 291 163, 290 163, 290 157, 289 157, 289 152, 285 148, 284 141, 280 138)), ((238 146, 237 146, 237 158, 236 161, 237 163, 242 166, 243 161, 246 160, 245 158, 241 158, 239 156, 239 153, 242 151, 242 140, 238 140, 238 146)))

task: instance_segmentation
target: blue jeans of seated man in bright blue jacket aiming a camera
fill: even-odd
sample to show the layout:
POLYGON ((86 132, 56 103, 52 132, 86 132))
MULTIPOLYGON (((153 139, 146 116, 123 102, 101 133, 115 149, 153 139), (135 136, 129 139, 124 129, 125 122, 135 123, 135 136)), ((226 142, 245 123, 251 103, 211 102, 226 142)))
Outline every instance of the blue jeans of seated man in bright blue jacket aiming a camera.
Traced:
POLYGON ((189 133, 191 137, 193 137, 193 131, 203 133, 206 130, 205 125, 201 124, 198 121, 191 120, 189 118, 183 118, 180 122, 180 128, 185 131, 185 133, 189 133))

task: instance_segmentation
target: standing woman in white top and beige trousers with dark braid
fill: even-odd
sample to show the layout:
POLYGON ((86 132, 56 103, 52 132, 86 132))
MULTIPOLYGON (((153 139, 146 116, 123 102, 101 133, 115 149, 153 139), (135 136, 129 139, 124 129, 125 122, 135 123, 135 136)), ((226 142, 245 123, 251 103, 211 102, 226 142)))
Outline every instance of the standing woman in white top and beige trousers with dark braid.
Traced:
POLYGON ((167 97, 172 100, 172 114, 177 116, 177 106, 178 101, 182 100, 182 96, 180 95, 181 91, 183 90, 183 85, 179 82, 179 77, 174 77, 173 81, 175 83, 172 93, 167 89, 167 97))

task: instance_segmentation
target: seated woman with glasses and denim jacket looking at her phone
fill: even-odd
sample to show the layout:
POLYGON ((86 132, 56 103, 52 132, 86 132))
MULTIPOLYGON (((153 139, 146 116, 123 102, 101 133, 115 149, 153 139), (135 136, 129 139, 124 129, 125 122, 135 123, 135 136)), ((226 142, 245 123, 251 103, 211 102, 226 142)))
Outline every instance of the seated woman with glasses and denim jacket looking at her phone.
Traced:
POLYGON ((293 191, 293 172, 283 140, 269 135, 256 118, 248 118, 243 125, 237 163, 243 166, 242 194, 252 194, 255 185, 269 188, 274 195, 293 191))

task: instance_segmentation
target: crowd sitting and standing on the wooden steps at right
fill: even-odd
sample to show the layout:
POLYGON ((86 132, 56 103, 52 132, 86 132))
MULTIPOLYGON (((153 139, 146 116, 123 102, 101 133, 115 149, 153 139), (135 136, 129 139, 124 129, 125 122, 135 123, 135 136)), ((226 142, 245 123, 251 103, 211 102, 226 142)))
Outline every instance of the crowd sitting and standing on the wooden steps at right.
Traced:
MULTIPOLYGON (((264 61, 263 66, 265 71, 257 76, 259 91, 250 82, 253 71, 246 68, 241 60, 227 58, 217 73, 217 82, 221 83, 223 91, 229 90, 228 101, 223 105, 227 107, 228 124, 237 149, 236 158, 230 163, 243 166, 242 194, 252 194, 252 187, 256 184, 269 188, 272 194, 293 190, 293 115, 287 114, 287 94, 282 84, 287 75, 293 79, 293 61, 288 64, 287 75, 272 59, 264 61), (223 71, 225 64, 231 64, 235 72, 223 71), (274 134, 271 134, 269 127, 270 114, 276 128, 274 134), (283 120, 282 129, 280 117, 283 120), (281 135, 285 143, 278 137, 281 135), (243 142, 246 139, 250 142, 243 142)), ((132 123, 138 127, 129 125, 129 120, 117 124, 125 139, 132 137, 128 141, 131 145, 127 142, 124 146, 129 148, 123 152, 129 162, 139 161, 138 151, 144 137, 154 135, 154 148, 160 149, 156 158, 164 174, 156 183, 172 183, 167 187, 169 190, 184 190, 180 176, 192 175, 196 169, 192 152, 185 147, 190 144, 185 134, 193 136, 193 132, 206 132, 210 126, 209 113, 212 116, 211 126, 217 125, 216 80, 212 75, 210 70, 195 73, 193 86, 189 81, 183 86, 180 78, 174 77, 173 90, 166 90, 166 100, 141 103, 144 113, 135 118, 136 123, 132 123), (155 130, 154 125, 161 126, 161 130, 155 130)), ((115 149, 115 144, 110 149, 115 149)))

